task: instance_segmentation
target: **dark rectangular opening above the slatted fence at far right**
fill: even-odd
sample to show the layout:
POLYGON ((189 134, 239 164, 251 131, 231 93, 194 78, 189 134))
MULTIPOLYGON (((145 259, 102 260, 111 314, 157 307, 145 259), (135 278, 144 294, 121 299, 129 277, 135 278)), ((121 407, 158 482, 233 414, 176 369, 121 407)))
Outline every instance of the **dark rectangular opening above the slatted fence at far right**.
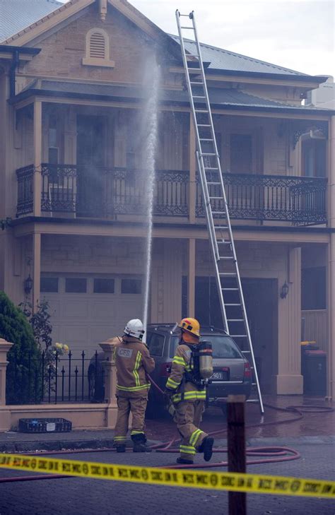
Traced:
POLYGON ((302 268, 301 309, 326 309, 326 267, 302 268))

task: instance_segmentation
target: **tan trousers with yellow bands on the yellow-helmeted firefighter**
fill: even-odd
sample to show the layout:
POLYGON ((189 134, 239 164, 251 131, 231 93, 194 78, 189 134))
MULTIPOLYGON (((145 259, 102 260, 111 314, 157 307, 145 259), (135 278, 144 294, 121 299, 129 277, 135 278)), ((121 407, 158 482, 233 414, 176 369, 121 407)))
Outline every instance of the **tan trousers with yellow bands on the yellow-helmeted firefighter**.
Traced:
POLYGON ((193 461, 196 449, 201 446, 207 433, 199 429, 204 401, 181 401, 175 406, 174 419, 177 430, 182 435, 180 442, 180 457, 193 461))

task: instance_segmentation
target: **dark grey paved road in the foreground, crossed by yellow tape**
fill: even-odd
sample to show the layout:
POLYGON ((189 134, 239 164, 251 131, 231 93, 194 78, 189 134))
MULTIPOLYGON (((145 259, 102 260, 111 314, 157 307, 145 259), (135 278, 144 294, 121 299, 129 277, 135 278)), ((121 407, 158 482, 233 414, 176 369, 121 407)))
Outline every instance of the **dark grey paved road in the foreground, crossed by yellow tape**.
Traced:
MULTIPOLYGON (((285 463, 247 466, 249 473, 290 475, 295 478, 334 478, 334 444, 298 444, 301 458, 285 463)), ((65 454, 71 458, 103 463, 164 466, 175 462, 175 455, 115 454, 110 451, 65 454)), ((216 461, 225 454, 216 454, 216 461)), ((204 463, 201 455, 196 462, 204 463)), ((214 470, 226 470, 218 468, 214 470)), ((26 475, 0 469, 0 478, 26 475)), ((0 515, 228 515, 228 493, 184 487, 165 487, 86 478, 61 478, 23 483, 0 482, 0 515)), ((248 515, 334 515, 334 499, 247 495, 248 515)))

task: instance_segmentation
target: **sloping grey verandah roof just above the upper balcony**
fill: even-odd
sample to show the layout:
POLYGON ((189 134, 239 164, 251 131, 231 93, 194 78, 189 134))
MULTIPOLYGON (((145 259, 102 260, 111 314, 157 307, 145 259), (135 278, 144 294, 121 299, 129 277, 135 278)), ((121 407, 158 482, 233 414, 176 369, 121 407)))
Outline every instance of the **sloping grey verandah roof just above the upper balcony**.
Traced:
MULTIPOLYGON (((145 91, 140 86, 90 84, 64 81, 35 80, 24 88, 11 102, 18 102, 32 95, 58 96, 68 98, 90 98, 91 100, 107 100, 121 102, 141 102, 145 91)), ((254 109, 265 111, 290 112, 327 112, 327 109, 291 105, 266 98, 249 95, 237 88, 209 88, 208 95, 211 106, 218 109, 254 109)), ((185 90, 160 90, 160 102, 163 104, 184 105, 189 107, 189 97, 185 90)), ((201 102, 197 102, 201 104, 201 102)))

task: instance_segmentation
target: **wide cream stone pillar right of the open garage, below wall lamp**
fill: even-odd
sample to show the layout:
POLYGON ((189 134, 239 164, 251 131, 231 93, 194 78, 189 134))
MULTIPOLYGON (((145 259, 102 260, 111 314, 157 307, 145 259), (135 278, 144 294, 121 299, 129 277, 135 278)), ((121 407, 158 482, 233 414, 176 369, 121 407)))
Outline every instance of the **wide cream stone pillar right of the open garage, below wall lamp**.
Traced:
MULTIPOLYGON (((301 249, 288 251, 288 296, 279 298, 278 306, 278 375, 276 393, 301 394, 301 249)), ((279 284, 281 288, 281 284, 279 284)))

